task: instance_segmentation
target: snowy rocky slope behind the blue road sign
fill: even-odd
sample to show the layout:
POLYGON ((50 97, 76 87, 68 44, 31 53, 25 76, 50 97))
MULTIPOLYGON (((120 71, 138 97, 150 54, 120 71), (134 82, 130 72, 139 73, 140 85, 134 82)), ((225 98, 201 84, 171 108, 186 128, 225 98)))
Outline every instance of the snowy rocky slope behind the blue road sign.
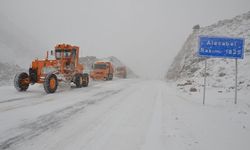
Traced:
MULTIPOLYGON (((238 60, 238 85, 239 89, 250 89, 250 11, 207 27, 194 26, 193 33, 189 35, 170 66, 166 79, 177 81, 183 89, 202 87, 204 59, 197 56, 199 35, 245 38, 245 56, 243 60, 238 60)), ((227 92, 233 90, 235 60, 209 58, 207 63, 208 86, 222 88, 227 92)))

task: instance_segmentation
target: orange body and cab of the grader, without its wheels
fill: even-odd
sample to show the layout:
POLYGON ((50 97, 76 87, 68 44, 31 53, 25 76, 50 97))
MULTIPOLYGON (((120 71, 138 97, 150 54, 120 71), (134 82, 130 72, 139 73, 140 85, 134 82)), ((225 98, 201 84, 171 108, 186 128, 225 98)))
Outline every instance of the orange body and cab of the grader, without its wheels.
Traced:
POLYGON ((51 54, 55 55, 55 59, 48 60, 48 52, 45 60, 32 61, 29 69, 31 83, 43 83, 48 73, 60 74, 61 80, 72 80, 76 73, 83 72, 83 65, 79 64, 79 47, 68 44, 59 44, 55 46, 55 50, 51 54))

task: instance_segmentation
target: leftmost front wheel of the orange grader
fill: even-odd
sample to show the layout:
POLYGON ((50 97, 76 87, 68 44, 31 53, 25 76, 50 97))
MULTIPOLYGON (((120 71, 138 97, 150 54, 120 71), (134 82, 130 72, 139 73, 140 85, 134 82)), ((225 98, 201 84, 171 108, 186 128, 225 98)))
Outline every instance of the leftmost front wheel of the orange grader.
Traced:
POLYGON ((26 91, 29 87, 29 75, 26 72, 16 74, 14 86, 17 91, 26 91))

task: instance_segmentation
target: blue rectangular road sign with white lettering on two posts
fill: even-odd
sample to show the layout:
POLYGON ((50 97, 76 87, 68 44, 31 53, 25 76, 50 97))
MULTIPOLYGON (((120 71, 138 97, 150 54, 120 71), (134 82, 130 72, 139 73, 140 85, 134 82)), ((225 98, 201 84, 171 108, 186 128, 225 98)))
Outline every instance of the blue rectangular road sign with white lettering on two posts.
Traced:
POLYGON ((199 56, 243 59, 243 38, 199 37, 199 56))

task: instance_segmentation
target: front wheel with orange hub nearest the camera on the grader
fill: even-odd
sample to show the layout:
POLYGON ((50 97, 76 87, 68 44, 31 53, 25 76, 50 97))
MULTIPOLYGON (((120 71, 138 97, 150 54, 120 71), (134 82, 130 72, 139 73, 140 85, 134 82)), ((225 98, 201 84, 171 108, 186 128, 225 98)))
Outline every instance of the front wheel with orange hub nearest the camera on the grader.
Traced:
POLYGON ((55 74, 48 74, 45 77, 43 87, 46 93, 54 93, 58 86, 58 80, 55 74))

